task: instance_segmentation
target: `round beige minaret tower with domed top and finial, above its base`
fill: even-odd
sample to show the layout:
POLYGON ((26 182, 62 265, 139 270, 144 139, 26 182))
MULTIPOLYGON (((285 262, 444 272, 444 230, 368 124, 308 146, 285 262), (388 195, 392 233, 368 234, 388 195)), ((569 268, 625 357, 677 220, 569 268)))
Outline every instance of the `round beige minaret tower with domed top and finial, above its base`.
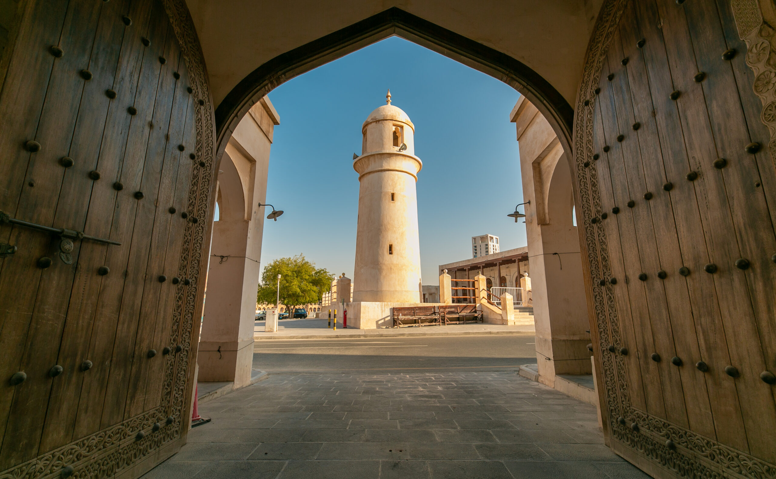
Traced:
POLYGON ((421 302, 421 249, 417 237, 415 127, 390 104, 362 126, 359 226, 355 239, 354 302, 421 302))

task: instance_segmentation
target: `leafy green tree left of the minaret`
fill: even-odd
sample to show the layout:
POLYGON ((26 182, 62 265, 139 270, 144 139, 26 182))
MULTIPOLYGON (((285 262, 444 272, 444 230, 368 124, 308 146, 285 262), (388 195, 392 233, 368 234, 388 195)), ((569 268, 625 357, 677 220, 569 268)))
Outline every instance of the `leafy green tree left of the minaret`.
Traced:
MULTIPOLYGON (((262 281, 258 284, 256 302, 275 304, 280 274, 280 304, 286 305, 289 318, 293 308, 307 303, 317 303, 331 289, 334 274, 315 267, 303 254, 279 258, 264 267, 262 281)), ((277 305, 280 308, 280 305, 277 305)))

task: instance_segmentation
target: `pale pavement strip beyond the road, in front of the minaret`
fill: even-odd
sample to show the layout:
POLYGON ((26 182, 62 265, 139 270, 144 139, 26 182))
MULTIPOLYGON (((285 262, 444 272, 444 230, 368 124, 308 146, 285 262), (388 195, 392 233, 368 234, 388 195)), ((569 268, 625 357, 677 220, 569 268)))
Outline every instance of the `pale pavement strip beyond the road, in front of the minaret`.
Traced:
POLYGON ((451 324, 448 326, 422 326, 419 328, 379 328, 379 329, 345 329, 341 319, 337 330, 329 328, 328 319, 282 319, 278 322, 275 333, 265 333, 265 321, 257 321, 254 326, 254 339, 313 339, 320 336, 327 338, 387 337, 387 336, 457 336, 469 334, 515 334, 534 333, 533 325, 502 326, 473 322, 469 324, 451 324))

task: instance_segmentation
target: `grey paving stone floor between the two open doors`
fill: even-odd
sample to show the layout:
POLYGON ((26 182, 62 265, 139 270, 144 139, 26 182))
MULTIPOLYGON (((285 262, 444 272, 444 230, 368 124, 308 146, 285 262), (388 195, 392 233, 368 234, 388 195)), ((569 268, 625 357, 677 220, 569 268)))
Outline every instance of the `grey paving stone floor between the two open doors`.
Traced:
POLYGON ((144 479, 642 478, 595 408, 514 371, 272 375, 144 479))

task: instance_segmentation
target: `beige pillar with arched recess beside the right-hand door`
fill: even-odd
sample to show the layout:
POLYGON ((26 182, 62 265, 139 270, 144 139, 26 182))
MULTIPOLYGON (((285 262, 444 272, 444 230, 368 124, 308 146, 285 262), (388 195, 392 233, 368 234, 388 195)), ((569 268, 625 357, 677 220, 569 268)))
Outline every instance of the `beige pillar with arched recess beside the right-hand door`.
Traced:
POLYGON ((514 105, 511 121, 520 143, 523 202, 531 201, 525 205, 531 269, 531 277, 525 277, 526 301, 532 299, 534 308, 539 381, 554 386, 556 374, 591 374, 570 167, 549 122, 525 97, 514 105))

